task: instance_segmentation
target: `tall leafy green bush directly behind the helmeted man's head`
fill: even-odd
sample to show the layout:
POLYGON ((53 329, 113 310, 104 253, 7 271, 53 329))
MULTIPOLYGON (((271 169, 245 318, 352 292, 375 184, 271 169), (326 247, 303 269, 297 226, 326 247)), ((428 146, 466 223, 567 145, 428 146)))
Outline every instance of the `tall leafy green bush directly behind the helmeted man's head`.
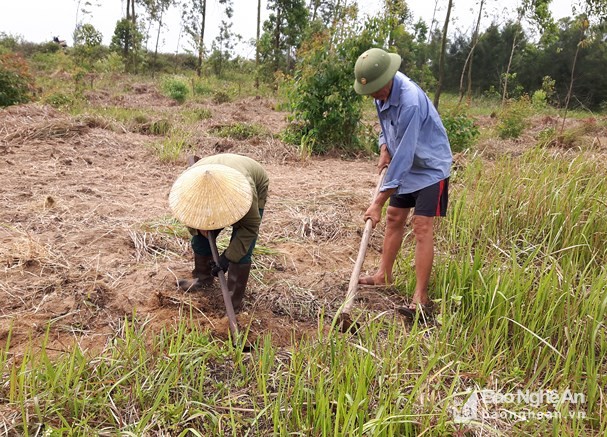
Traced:
POLYGON ((361 31, 345 17, 339 24, 340 39, 317 30, 298 50, 288 94, 289 121, 295 129, 285 136, 299 143, 302 155, 335 150, 355 154, 366 148, 360 123, 363 98, 353 87, 354 64, 366 49, 381 45, 381 22, 374 20, 361 31))

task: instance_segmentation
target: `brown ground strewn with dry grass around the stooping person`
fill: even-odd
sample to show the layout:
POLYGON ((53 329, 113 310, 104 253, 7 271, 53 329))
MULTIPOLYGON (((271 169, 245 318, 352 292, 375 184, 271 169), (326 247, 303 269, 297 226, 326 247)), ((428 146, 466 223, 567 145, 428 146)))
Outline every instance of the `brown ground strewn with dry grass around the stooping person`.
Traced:
MULTIPOLYGON (((280 346, 315 335, 323 313, 330 323, 360 245, 375 162, 301 160, 274 135, 238 141, 210 133, 247 122, 277 134, 285 114, 260 98, 184 108, 143 86, 118 102, 91 94, 90 103, 175 114, 209 109, 212 118, 193 128, 195 152, 250 156, 271 178, 239 326, 251 340, 271 333, 280 346)), ((178 278, 190 276, 192 254, 187 239, 167 232, 174 227, 167 198, 186 164, 185 157, 161 162, 150 147, 160 139, 49 106, 0 111, 0 347, 10 339, 18 356, 30 341, 39 347, 48 329, 48 350, 75 343, 100 350, 134 314, 150 329, 191 317, 227 337, 219 286, 192 294, 177 287, 178 278)), ((382 234, 380 225, 363 271, 376 265, 382 234)), ((360 297, 386 311, 403 300, 390 291, 361 290, 360 297)))

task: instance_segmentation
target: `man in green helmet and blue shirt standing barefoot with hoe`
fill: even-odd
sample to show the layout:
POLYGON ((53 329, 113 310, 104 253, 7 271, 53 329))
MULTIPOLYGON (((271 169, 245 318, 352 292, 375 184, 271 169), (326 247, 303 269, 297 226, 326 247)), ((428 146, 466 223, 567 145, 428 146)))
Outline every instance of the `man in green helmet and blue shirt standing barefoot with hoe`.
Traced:
POLYGON ((434 217, 447 212, 451 148, 438 112, 422 89, 399 72, 401 58, 372 48, 354 66, 354 90, 370 95, 381 124, 379 171, 388 167, 376 199, 365 212, 373 226, 386 212, 386 234, 377 272, 359 279, 362 285, 389 285, 411 208, 415 234, 416 285, 412 302, 400 311, 414 317, 430 310, 428 283, 434 259, 434 217))

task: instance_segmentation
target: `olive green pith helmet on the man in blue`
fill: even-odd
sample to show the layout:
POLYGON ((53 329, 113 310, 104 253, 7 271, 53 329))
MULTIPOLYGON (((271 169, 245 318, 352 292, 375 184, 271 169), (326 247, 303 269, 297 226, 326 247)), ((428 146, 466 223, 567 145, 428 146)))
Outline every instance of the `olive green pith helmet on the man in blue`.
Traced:
POLYGON ((373 94, 385 87, 400 67, 400 56, 382 49, 369 49, 354 65, 354 91, 358 94, 373 94))

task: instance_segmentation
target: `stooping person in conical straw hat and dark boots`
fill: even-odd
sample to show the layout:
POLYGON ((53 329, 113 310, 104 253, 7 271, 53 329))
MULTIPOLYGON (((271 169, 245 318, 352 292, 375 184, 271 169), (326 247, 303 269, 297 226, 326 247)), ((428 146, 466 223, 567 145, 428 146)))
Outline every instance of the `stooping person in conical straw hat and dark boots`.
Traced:
POLYGON ((185 291, 203 290, 224 271, 237 312, 242 308, 251 255, 268 197, 268 175, 257 161, 230 153, 195 157, 188 162, 194 164, 177 178, 169 195, 173 214, 193 235, 193 280, 182 279, 179 287, 185 291), (215 232, 217 236, 230 225, 230 243, 215 264, 208 233, 215 232))

